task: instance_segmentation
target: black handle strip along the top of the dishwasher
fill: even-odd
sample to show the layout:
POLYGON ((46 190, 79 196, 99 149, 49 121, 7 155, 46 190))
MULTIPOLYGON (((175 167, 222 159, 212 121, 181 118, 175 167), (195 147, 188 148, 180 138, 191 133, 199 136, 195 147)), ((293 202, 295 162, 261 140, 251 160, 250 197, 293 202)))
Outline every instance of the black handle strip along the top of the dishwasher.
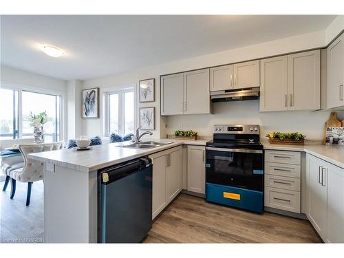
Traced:
POLYGON ((140 158, 138 160, 133 160, 132 162, 109 167, 100 171, 101 184, 111 184, 111 182, 125 178, 126 176, 141 171, 151 165, 151 158, 140 158))

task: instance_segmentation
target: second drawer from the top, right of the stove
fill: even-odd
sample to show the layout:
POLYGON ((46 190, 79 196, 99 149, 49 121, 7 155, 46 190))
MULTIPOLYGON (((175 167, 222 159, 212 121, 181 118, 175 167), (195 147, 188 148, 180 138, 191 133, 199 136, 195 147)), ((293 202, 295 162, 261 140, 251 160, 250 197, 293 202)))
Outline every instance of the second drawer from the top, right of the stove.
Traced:
POLYGON ((284 177, 300 178, 301 166, 293 164, 265 162, 264 172, 268 175, 281 175, 284 177))

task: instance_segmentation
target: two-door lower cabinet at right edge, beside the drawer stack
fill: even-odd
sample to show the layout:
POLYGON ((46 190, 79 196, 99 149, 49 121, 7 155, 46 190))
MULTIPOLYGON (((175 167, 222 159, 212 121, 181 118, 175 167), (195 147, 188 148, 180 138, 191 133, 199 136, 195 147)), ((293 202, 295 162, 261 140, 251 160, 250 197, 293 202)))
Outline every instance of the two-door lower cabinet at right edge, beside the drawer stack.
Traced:
POLYGON ((344 242, 344 169, 307 154, 307 217, 321 238, 344 242))

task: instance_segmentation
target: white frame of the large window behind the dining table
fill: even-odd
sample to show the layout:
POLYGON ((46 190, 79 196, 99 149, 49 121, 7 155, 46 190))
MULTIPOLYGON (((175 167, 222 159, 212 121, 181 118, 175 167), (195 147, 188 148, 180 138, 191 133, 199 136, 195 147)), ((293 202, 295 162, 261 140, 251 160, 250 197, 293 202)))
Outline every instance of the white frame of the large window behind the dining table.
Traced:
POLYGON ((60 120, 60 125, 58 130, 60 131, 60 139, 56 140, 65 140, 65 118, 67 117, 65 112, 65 93, 64 92, 57 92, 57 91, 52 91, 49 89, 37 89, 33 87, 26 87, 23 85, 14 85, 10 83, 1 83, 0 85, 1 89, 10 89, 18 92, 18 107, 17 107, 17 112, 18 112, 18 137, 21 139, 23 137, 23 111, 22 111, 22 93, 23 92, 32 92, 32 93, 37 93, 37 94, 47 94, 47 95, 54 95, 54 96, 59 96, 60 97, 60 103, 59 103, 59 120, 60 120))

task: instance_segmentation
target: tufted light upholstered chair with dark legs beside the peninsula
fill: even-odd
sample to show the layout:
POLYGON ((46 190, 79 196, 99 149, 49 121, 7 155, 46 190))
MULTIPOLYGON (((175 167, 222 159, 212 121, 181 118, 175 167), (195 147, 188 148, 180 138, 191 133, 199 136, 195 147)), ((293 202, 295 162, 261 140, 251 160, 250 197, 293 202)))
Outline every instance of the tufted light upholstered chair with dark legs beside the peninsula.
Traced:
POLYGON ((13 199, 16 192, 16 182, 28 183, 28 195, 26 206, 30 204, 32 182, 43 180, 44 163, 28 158, 28 154, 43 151, 54 151, 63 148, 63 142, 43 143, 43 144, 19 144, 19 150, 24 158, 24 168, 10 171, 11 193, 13 199))

